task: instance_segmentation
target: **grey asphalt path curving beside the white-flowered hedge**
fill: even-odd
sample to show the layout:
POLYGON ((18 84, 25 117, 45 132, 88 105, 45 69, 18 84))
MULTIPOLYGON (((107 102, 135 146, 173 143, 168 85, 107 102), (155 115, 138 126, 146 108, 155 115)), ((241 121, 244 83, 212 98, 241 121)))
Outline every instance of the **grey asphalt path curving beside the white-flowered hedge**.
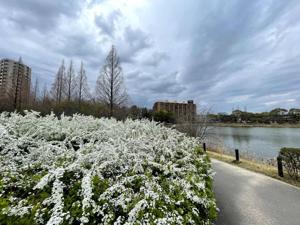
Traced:
POLYGON ((300 225, 300 188, 211 159, 216 225, 300 225))

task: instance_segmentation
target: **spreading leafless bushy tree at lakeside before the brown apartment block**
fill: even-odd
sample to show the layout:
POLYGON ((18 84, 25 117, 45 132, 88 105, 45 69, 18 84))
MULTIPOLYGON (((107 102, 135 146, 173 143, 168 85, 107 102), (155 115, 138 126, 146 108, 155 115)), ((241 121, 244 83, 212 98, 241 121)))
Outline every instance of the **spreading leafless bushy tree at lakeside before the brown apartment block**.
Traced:
POLYGON ((176 129, 189 137, 205 140, 217 136, 217 127, 213 126, 215 119, 212 107, 201 107, 199 102, 196 104, 196 114, 192 107, 187 107, 187 113, 176 118, 176 121, 179 123, 176 129))

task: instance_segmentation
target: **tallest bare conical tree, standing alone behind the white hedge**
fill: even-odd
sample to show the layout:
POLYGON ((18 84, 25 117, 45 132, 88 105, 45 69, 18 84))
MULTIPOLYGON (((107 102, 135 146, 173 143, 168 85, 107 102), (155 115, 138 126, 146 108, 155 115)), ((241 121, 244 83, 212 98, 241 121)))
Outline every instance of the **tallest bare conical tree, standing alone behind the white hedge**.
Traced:
POLYGON ((104 116, 120 119, 124 116, 121 115, 122 110, 128 104, 130 97, 125 85, 123 69, 120 67, 121 59, 114 45, 111 46, 110 53, 104 61, 105 65, 98 73, 94 101, 107 107, 104 116))

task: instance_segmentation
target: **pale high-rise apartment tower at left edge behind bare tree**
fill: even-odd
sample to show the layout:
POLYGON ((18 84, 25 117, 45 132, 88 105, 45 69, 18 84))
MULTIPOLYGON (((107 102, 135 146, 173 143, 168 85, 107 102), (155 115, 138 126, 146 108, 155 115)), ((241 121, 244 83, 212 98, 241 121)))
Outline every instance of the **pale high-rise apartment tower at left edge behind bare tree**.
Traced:
MULTIPOLYGON (((4 58, 0 61, 0 96, 1 97, 5 95, 8 85, 13 81, 13 76, 15 76, 17 65, 18 65, 18 61, 14 61, 9 58, 4 58)), ((29 68, 25 64, 22 64, 21 66, 24 69, 22 81, 25 81, 25 84, 30 85, 31 68, 29 68)))

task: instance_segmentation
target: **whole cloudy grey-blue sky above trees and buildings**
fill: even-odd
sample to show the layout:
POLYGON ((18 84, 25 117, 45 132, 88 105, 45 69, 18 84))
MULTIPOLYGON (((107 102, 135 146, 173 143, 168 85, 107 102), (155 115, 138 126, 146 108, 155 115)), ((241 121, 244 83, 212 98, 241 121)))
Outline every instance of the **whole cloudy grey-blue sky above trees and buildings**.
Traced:
POLYGON ((1 1, 0 58, 48 90, 64 58, 94 88, 114 44, 136 105, 300 108, 300 1, 1 1))

